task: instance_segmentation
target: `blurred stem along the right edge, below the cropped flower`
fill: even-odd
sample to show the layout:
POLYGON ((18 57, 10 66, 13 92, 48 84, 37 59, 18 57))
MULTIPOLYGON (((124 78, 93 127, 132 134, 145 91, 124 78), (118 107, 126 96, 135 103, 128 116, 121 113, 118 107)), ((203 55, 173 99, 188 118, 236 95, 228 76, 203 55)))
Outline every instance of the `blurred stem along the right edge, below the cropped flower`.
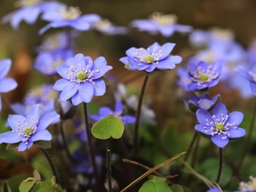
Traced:
POLYGON ((247 152, 248 152, 248 149, 249 149, 249 145, 250 145, 251 140, 252 140, 255 116, 256 116, 256 96, 254 96, 253 114, 252 114, 252 119, 251 119, 249 131, 248 131, 248 134, 247 134, 247 141, 245 143, 245 147, 243 148, 243 153, 241 154, 241 158, 238 161, 238 164, 236 164, 237 172, 239 172, 239 169, 241 168, 241 166, 242 166, 242 164, 243 164, 243 162, 244 162, 244 160, 246 158, 246 155, 247 155, 247 152))

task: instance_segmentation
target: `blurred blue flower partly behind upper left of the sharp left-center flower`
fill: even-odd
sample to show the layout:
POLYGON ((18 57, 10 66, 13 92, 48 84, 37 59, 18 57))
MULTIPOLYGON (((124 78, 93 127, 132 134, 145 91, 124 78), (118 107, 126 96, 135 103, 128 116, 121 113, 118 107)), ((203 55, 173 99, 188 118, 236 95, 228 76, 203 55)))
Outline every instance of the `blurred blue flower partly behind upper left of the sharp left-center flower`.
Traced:
POLYGON ((55 51, 44 51, 38 54, 34 67, 45 75, 55 75, 56 67, 65 63, 73 56, 72 49, 56 49, 55 51))

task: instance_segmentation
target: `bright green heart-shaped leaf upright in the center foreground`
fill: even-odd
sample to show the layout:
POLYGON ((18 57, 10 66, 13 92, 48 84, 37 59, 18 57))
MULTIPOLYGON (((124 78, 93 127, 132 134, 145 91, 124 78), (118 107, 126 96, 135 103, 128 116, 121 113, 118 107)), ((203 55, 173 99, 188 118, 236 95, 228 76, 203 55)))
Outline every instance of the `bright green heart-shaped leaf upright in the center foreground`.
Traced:
POLYGON ((119 139, 122 137, 125 131, 125 126, 123 122, 109 114, 107 117, 99 120, 94 125, 92 125, 91 133, 94 137, 98 139, 108 139, 113 137, 114 139, 119 139))

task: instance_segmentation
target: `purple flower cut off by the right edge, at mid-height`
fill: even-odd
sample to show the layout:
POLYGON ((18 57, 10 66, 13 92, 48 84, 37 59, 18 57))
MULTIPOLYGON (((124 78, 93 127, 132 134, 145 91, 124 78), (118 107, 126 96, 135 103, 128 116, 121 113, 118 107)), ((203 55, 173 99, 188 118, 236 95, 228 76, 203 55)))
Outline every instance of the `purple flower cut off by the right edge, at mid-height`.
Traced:
POLYGON ((253 96, 256 96, 256 65, 252 70, 247 70, 244 67, 236 67, 236 71, 240 72, 249 82, 253 96))

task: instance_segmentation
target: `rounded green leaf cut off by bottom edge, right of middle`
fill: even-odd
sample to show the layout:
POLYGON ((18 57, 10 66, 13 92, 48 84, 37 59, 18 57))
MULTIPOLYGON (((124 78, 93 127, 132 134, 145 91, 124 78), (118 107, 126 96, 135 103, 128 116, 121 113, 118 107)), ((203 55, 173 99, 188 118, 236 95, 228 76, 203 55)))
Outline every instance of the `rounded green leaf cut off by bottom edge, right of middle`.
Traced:
POLYGON ((163 179, 153 178, 143 183, 138 192, 172 192, 172 189, 163 179))

